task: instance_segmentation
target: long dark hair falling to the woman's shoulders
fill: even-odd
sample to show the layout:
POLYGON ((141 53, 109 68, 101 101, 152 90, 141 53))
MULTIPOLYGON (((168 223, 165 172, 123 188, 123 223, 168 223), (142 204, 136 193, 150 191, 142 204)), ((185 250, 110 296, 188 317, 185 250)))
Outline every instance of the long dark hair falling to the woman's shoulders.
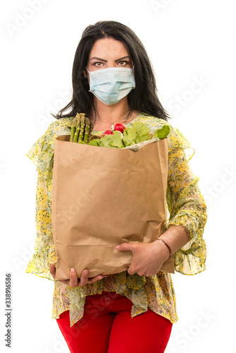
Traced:
POLYGON ((141 40, 126 25, 116 21, 100 21, 95 25, 88 25, 82 33, 76 49, 72 69, 72 100, 66 107, 52 114, 56 119, 76 116, 76 113, 85 113, 87 116, 94 107, 93 93, 88 92, 89 83, 83 72, 88 63, 88 57, 93 44, 102 38, 111 37, 123 42, 134 64, 136 88, 129 92, 128 103, 130 112, 134 110, 144 114, 157 116, 166 120, 170 117, 158 99, 158 90, 155 83, 153 66, 141 40), (71 108, 69 113, 66 110, 71 108))

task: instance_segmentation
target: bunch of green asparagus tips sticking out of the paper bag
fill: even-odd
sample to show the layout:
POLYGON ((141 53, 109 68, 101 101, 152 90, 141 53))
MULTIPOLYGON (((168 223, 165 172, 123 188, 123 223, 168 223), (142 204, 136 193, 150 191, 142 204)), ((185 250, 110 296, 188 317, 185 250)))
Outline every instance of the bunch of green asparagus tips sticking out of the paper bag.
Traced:
POLYGON ((92 131, 93 122, 84 113, 77 113, 71 124, 70 142, 87 143, 92 131))

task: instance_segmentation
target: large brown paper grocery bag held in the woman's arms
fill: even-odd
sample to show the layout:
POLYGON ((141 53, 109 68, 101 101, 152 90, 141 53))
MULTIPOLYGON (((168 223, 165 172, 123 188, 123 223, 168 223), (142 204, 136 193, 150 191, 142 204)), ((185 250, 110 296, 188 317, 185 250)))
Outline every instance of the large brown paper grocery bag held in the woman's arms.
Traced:
MULTIPOLYGON (((138 151, 55 140, 52 231, 56 280, 120 273, 131 251, 123 242, 149 243, 166 224, 167 138, 138 151)), ((160 269, 175 273, 173 255, 160 269)))

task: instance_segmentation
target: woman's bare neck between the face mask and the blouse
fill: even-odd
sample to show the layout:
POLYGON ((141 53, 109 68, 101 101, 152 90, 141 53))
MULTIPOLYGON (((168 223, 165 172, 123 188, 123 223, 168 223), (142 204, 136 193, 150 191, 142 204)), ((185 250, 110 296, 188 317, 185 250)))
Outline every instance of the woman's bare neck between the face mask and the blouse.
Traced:
POLYGON ((107 105, 100 100, 98 100, 97 97, 94 97, 95 99, 95 112, 94 110, 91 110, 90 112, 90 119, 92 121, 95 121, 95 115, 96 115, 96 121, 109 121, 112 123, 112 121, 120 121, 122 119, 125 119, 126 116, 129 114, 129 104, 127 97, 124 97, 122 100, 120 100, 117 104, 114 105, 107 105))

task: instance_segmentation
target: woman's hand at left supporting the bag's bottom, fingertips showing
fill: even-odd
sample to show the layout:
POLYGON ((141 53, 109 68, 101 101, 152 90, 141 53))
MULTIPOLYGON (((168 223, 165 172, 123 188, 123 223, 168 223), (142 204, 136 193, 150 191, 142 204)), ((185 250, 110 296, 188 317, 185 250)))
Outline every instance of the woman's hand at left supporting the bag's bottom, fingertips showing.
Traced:
MULTIPOLYGON (((55 276, 56 268, 52 263, 49 264, 49 271, 50 271, 52 277, 55 278, 56 277, 55 276)), ((71 287, 78 287, 78 286, 87 285, 87 283, 93 283, 98 280, 102 280, 103 277, 107 277, 107 276, 99 275, 96 277, 88 278, 88 270, 84 270, 81 274, 81 278, 78 278, 77 274, 76 274, 76 270, 71 268, 70 279, 69 280, 62 280, 59 282, 64 283, 64 285, 69 285, 71 287)))

